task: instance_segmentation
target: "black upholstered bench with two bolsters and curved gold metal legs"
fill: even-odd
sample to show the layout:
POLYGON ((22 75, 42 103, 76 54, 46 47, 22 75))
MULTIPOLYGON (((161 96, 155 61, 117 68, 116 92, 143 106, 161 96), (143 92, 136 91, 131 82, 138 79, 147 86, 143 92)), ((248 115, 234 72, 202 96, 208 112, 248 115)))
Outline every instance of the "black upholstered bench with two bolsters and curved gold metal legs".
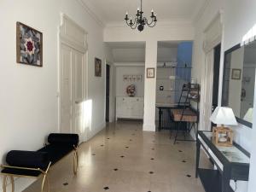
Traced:
POLYGON ((43 177, 41 191, 45 180, 48 183, 49 167, 61 160, 67 154, 73 153, 73 173, 76 175, 79 164, 79 135, 51 133, 48 144, 38 151, 12 150, 6 155, 8 166, 0 165, 3 175, 3 192, 6 192, 7 178, 10 177, 12 191, 15 191, 14 177, 43 177))

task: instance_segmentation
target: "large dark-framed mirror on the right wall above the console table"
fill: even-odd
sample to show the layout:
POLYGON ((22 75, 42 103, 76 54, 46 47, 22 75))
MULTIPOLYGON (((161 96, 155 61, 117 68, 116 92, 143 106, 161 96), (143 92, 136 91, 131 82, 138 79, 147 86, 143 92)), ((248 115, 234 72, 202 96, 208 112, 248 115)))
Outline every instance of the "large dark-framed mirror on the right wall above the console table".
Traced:
POLYGON ((239 123, 252 127, 256 42, 227 50, 222 105, 233 109, 239 123))

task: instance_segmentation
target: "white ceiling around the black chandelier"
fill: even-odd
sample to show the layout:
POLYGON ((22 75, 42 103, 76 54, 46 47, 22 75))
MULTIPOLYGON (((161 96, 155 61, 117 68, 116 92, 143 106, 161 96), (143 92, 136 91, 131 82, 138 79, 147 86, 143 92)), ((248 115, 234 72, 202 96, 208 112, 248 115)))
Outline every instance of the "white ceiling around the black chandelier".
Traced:
MULTIPOLYGON (((82 0, 93 7, 99 19, 106 25, 124 22, 125 12, 134 17, 140 0, 82 0)), ((143 11, 151 15, 151 9, 158 20, 194 20, 207 0, 143 0, 143 11)))

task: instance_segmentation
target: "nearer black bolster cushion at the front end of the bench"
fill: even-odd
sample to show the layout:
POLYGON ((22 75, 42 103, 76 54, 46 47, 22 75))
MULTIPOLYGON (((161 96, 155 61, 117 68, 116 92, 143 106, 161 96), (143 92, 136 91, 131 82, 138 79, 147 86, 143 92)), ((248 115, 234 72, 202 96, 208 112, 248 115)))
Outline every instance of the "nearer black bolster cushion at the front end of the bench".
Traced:
POLYGON ((6 155, 9 166, 41 168, 45 170, 49 165, 49 156, 44 152, 12 150, 6 155))

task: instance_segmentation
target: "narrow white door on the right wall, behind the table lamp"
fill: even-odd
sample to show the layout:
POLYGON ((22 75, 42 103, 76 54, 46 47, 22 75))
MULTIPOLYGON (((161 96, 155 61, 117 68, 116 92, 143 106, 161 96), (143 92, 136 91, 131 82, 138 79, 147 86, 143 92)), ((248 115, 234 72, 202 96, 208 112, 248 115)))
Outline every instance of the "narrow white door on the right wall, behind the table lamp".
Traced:
POLYGON ((212 115, 212 80, 213 80, 213 65, 214 65, 214 49, 207 53, 206 71, 204 79, 204 101, 203 101, 203 126, 205 131, 211 131, 210 117, 212 115))

